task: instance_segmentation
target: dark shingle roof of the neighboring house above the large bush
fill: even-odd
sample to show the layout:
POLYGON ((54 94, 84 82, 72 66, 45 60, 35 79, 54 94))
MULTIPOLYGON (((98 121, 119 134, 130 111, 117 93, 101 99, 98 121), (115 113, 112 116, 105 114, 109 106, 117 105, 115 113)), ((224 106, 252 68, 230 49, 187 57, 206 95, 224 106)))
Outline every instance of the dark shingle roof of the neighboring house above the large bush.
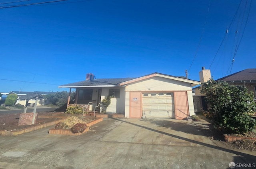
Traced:
POLYGON ((216 81, 256 81, 256 69, 245 69, 222 77, 216 81))

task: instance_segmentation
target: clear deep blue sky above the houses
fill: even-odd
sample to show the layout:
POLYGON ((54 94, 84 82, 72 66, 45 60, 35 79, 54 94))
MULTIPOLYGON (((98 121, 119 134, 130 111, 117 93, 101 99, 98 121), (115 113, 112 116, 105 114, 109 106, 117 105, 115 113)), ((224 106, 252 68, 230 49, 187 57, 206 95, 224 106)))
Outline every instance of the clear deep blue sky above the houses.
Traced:
MULTIPOLYGON (((234 56, 231 73, 255 68, 256 2, 239 4, 67 0, 0 8, 0 92, 61 91, 58 85, 83 81, 86 73, 100 79, 189 70, 188 78, 199 81, 202 66, 218 79, 230 74, 234 56)), ((10 5, 16 4, 0 7, 10 5)))

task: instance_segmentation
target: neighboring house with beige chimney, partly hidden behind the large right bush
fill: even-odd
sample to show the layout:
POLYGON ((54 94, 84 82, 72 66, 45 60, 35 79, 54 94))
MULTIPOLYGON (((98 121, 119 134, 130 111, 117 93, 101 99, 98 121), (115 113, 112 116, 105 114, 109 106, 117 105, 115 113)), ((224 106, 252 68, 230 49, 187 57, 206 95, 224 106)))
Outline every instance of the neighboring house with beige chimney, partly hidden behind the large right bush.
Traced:
MULTIPOLYGON (((211 77, 210 70, 202 69, 199 75, 200 75, 200 81, 202 83, 208 81, 209 78, 211 77)), ((225 81, 229 85, 234 85, 234 86, 244 86, 248 89, 249 92, 253 91, 254 97, 256 97, 256 69, 245 69, 243 71, 239 71, 231 75, 217 79, 216 81, 225 81)), ((201 108, 203 108, 204 110, 207 109, 207 105, 204 102, 204 96, 203 94, 200 93, 199 88, 200 86, 193 88, 195 92, 195 96, 193 96, 195 112, 200 112, 201 108)))

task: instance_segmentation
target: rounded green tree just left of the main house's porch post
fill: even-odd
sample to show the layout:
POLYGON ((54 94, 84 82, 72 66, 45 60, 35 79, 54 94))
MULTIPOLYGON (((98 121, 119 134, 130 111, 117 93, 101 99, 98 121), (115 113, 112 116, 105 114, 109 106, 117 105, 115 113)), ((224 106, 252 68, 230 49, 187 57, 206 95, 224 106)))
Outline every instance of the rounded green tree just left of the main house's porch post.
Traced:
MULTIPOLYGON (((75 92, 71 92, 70 101, 74 101, 75 92)), ((49 104, 57 105, 58 107, 63 106, 64 104, 68 103, 68 92, 61 91, 56 92, 54 94, 47 94, 45 98, 48 100, 49 104)))

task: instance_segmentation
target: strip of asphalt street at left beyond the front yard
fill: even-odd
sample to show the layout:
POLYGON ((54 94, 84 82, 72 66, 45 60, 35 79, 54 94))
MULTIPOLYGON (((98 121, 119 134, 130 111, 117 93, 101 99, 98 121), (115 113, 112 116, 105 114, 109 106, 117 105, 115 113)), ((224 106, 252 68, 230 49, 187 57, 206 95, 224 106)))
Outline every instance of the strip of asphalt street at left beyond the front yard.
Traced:
MULTIPOLYGON (((34 108, 28 107, 27 113, 33 112, 34 108)), ((56 110, 56 107, 46 107, 45 106, 37 106, 36 112, 52 112, 56 110)), ((14 113, 23 113, 23 109, 13 109, 13 110, 0 110, 0 114, 14 114, 14 113)))

